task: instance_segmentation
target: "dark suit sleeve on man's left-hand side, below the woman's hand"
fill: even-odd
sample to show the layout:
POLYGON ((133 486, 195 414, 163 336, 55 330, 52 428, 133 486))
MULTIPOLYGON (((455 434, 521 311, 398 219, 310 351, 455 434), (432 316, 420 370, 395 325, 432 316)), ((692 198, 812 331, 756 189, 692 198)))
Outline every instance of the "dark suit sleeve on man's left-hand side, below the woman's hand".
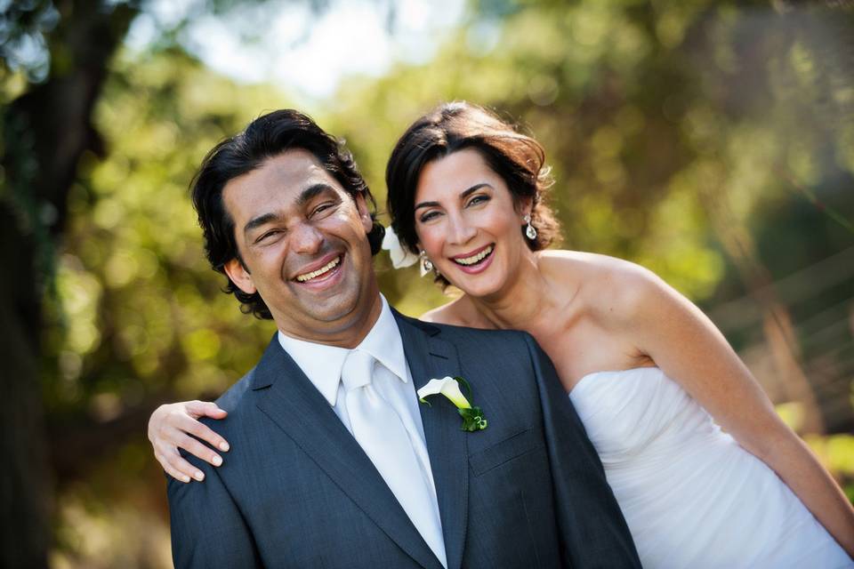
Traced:
POLYGON ((185 484, 167 476, 172 558, 176 569, 262 567, 252 533, 216 470, 185 456, 205 473, 185 484))

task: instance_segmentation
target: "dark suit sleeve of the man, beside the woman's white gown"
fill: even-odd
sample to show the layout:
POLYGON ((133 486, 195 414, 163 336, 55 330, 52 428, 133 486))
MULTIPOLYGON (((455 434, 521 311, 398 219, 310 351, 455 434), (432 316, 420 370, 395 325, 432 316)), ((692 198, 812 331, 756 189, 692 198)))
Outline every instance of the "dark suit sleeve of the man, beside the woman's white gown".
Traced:
POLYGON ((552 360, 529 335, 554 485, 561 549, 573 567, 640 567, 632 535, 552 360))

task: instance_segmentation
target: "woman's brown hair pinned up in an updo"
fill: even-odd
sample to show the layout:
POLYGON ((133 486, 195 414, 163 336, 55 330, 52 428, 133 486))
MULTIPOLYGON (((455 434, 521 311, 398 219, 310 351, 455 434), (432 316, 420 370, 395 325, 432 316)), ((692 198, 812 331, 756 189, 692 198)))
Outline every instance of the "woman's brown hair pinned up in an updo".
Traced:
MULTIPOLYGON (((544 204, 552 176, 540 143, 486 108, 454 101, 442 103, 418 118, 391 152, 385 170, 388 209, 391 227, 403 247, 419 252, 415 246, 415 189, 424 166, 463 148, 474 148, 483 156, 489 168, 507 184, 517 206, 523 199, 531 199, 531 224, 536 228, 536 238, 525 236, 525 224, 521 222, 520 231, 532 251, 560 240, 560 224, 544 204)), ((440 275, 436 282, 443 288, 449 284, 440 275)))

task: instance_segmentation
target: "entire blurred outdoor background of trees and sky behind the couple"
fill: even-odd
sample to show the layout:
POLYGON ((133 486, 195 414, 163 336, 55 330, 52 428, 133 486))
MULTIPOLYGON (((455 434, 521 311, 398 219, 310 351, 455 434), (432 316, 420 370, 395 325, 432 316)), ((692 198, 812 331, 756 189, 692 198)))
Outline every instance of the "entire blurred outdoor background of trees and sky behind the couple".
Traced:
MULTIPOLYGON (((697 302, 854 498, 854 3, 0 0, 0 60, 0 566, 171 566, 149 413, 273 332, 220 292, 187 188, 285 107, 381 210, 439 101, 520 124, 564 246, 697 302)), ((403 312, 444 301, 376 266, 403 312)))

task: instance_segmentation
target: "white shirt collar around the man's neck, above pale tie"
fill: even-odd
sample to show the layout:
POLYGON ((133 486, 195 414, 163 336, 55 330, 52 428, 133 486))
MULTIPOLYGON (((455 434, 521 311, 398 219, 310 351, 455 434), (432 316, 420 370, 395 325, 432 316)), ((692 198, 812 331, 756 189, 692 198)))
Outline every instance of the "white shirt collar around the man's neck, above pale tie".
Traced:
MULTIPOLYGON (((376 319, 374 326, 356 349, 367 351, 391 373, 394 373, 400 381, 407 383, 407 357, 403 351, 398 322, 391 314, 389 303, 382 294, 380 299, 383 301, 380 317, 376 319)), ((296 365, 300 366, 302 373, 305 373, 329 405, 335 406, 338 399, 338 384, 341 382, 341 370, 350 350, 297 340, 282 333, 281 330, 278 331, 278 343, 290 357, 294 358, 296 365)))

